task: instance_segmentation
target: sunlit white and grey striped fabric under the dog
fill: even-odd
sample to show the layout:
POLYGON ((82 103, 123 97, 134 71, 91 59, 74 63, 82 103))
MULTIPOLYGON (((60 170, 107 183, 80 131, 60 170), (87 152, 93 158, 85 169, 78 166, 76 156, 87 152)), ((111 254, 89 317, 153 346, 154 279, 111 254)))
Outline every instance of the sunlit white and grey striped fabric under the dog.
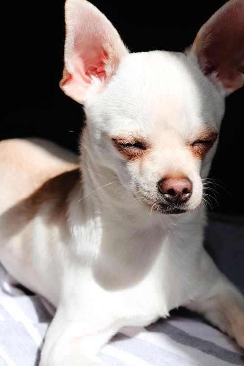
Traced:
MULTIPOLYGON (((54 309, 0 266, 0 366, 37 366, 54 309)), ((173 312, 146 328, 124 327, 99 357, 108 366, 244 365, 244 353, 196 316, 173 312)))

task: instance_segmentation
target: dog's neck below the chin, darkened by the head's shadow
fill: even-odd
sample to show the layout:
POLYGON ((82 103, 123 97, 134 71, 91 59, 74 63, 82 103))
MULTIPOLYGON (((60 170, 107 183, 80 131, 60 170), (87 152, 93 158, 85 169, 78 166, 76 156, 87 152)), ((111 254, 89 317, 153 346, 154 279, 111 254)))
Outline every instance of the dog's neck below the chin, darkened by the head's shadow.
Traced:
MULTIPOLYGON (((83 156, 81 161, 84 158, 87 163, 89 158, 83 156)), ((140 284, 163 257, 166 260, 172 252, 187 250, 187 245, 182 247, 181 235, 184 227, 189 229, 185 223, 199 210, 169 216, 140 209, 139 203, 131 203, 131 197, 126 197, 110 170, 94 160, 93 165, 86 163, 81 167, 82 183, 71 194, 69 222, 76 258, 85 258, 103 288, 110 291, 140 284), (122 192, 120 200, 124 196, 122 203, 118 191, 122 192), (128 203, 127 208, 124 203, 128 203), (169 236, 174 243, 172 239, 168 241, 169 236)), ((194 245, 197 249, 198 245, 194 245)))

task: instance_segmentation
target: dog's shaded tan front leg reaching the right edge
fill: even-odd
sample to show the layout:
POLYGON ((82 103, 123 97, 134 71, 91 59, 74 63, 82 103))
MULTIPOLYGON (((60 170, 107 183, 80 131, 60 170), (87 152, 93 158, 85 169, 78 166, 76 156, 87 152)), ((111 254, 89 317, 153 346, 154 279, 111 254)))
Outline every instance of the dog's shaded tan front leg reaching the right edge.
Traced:
POLYGON ((234 337, 244 348, 244 297, 219 271, 208 254, 203 251, 198 281, 194 285, 197 296, 186 304, 223 332, 234 337))

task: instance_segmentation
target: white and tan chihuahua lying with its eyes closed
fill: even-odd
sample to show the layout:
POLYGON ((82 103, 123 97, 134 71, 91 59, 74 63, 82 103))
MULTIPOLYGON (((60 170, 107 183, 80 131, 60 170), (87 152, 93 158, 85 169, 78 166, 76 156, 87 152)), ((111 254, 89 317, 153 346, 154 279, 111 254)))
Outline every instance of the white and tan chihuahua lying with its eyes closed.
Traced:
POLYGON ((41 366, 102 366, 124 325, 185 306, 244 347, 244 298, 203 249, 204 180, 224 98, 244 83, 244 1, 184 53, 129 53, 91 3, 66 0, 62 90, 83 104, 81 155, 0 142, 0 258, 57 308, 41 366))

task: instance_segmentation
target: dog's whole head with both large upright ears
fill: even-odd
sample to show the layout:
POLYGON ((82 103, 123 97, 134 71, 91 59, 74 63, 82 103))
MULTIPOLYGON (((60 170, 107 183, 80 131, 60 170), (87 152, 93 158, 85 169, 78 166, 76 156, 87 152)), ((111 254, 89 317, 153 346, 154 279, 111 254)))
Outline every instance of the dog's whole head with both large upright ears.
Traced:
POLYGON ((196 208, 224 97, 244 83, 244 1, 228 1, 185 53, 129 53, 84 0, 67 0, 65 19, 61 88, 84 105, 91 161, 150 210, 196 208))

